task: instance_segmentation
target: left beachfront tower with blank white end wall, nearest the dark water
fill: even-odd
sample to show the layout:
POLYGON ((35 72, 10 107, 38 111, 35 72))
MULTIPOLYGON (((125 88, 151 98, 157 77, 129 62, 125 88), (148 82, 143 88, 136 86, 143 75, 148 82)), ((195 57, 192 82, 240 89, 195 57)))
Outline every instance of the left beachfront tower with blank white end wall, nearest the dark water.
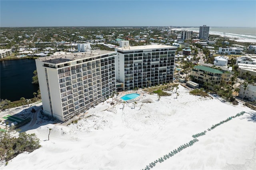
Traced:
POLYGON ((40 57, 36 69, 44 113, 67 121, 116 91, 114 51, 40 57))

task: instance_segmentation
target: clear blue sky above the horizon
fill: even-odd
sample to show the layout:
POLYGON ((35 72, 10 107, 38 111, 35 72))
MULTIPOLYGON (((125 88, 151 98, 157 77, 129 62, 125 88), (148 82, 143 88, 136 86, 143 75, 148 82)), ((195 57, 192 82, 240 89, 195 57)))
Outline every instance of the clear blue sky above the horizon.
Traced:
POLYGON ((1 27, 256 27, 255 0, 0 0, 1 27))

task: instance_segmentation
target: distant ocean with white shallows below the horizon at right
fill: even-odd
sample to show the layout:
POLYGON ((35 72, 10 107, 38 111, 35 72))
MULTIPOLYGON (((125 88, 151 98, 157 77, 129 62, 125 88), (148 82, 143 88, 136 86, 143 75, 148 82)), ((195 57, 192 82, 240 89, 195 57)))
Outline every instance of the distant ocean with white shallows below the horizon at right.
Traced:
MULTIPOLYGON (((199 28, 187 28, 194 32, 199 32, 199 28)), ((256 40, 256 27, 220 27, 220 28, 211 28, 209 34, 220 35, 233 38, 246 38, 256 40)))

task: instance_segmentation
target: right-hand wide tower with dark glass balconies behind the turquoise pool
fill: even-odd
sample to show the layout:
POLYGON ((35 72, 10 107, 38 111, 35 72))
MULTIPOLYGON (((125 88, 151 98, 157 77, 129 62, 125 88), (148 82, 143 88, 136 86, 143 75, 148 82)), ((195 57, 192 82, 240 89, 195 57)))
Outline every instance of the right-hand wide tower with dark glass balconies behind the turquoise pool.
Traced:
POLYGON ((116 81, 124 83, 123 90, 172 82, 176 49, 169 45, 129 46, 129 41, 120 41, 115 48, 116 81))

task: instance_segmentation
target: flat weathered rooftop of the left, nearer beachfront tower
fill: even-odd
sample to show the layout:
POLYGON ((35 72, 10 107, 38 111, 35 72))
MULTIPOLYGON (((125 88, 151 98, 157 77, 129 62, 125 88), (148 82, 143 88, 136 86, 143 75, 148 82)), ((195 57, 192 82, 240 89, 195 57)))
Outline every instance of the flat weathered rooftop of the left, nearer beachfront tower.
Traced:
POLYGON ((88 59, 94 56, 104 55, 107 53, 116 53, 115 51, 107 51, 107 50, 92 50, 92 52, 77 52, 77 53, 70 53, 64 55, 54 55, 48 57, 40 57, 37 60, 47 62, 47 63, 64 63, 66 61, 72 61, 76 59, 88 59))

